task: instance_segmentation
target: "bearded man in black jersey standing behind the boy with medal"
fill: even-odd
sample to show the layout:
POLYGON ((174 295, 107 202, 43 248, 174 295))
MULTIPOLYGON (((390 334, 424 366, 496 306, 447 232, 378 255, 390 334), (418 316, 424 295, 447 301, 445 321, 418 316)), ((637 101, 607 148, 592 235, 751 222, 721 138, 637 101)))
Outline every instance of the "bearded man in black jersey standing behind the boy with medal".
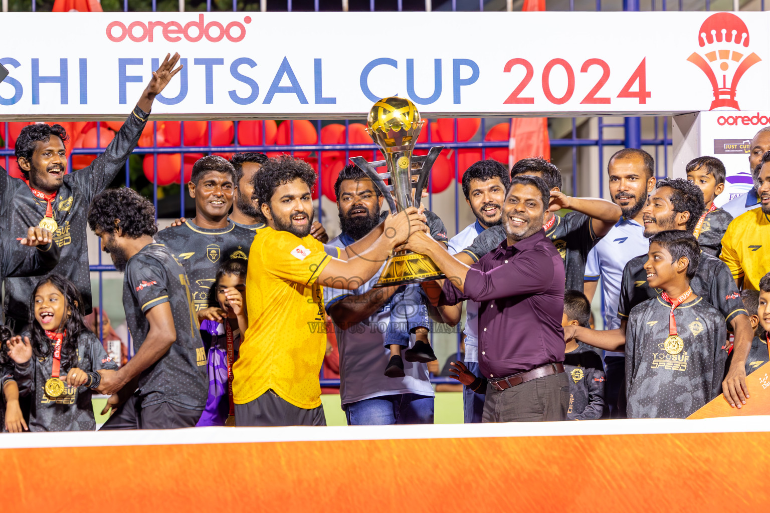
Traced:
MULTIPOLYGON (((684 178, 666 178, 655 184, 647 205, 642 210, 644 236, 651 238, 665 230, 684 230, 692 233, 698 219, 705 210, 703 192, 698 185, 684 178)), ((626 325, 631 309, 643 301, 654 298, 658 291, 648 285, 648 271, 644 263, 648 255, 631 258, 623 269, 621 293, 618 298, 618 318, 621 327, 613 330, 594 331, 589 328, 564 328, 564 337, 577 337, 581 341, 606 351, 623 348, 628 337, 626 325), (571 331, 575 330, 575 331, 571 331)), ((748 321, 746 309, 738 293, 738 287, 732 279, 730 269, 719 258, 703 253, 690 281, 692 291, 713 305, 735 333, 735 355, 730 370, 722 383, 725 399, 731 405, 740 405, 745 400, 745 360, 752 348, 754 336, 752 325, 748 321)), ((623 395, 621 395, 621 401, 623 395)), ((745 403, 743 403, 745 404, 745 403)), ((624 404, 618 410, 623 415, 624 404)))

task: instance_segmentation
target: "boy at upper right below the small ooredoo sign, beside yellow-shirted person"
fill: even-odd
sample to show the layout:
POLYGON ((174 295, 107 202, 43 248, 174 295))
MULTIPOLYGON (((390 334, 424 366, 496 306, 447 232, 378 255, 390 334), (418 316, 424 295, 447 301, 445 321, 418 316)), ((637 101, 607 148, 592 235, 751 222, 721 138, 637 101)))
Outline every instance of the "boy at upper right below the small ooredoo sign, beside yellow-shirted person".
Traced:
POLYGON ((695 235, 703 252, 719 256, 721 238, 732 221, 728 212, 714 204, 717 196, 725 190, 725 165, 716 157, 698 157, 688 162, 686 171, 687 179, 703 191, 706 202, 692 235, 695 235))

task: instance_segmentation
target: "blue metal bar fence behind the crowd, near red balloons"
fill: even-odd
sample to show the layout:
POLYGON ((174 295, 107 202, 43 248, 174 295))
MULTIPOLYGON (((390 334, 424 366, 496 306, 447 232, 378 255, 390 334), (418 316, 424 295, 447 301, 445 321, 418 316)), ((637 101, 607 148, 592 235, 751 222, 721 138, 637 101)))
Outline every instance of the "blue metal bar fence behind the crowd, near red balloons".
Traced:
MULTIPOLYGON (((336 10, 348 10, 350 7, 349 2, 350 0, 342 0, 342 3, 336 3, 331 4, 330 2, 320 2, 320 0, 313 0, 313 10, 317 11, 330 11, 335 10, 335 5, 339 5, 340 9, 336 10)), ((377 10, 393 10, 392 8, 377 8, 375 0, 369 0, 369 10, 370 11, 377 11, 377 10)), ((730 5, 728 5, 728 2, 720 2, 719 7, 720 8, 731 8, 731 2, 729 2, 730 5), (725 5, 722 5, 722 4, 725 5)), ((129 11, 129 0, 123 0, 122 2, 123 10, 129 11)), ((256 4, 253 4, 256 5, 256 4)), ((281 2, 275 2, 275 5, 282 5, 281 2)), ((283 10, 283 8, 275 8, 275 5, 273 2, 268 3, 266 0, 260 0, 259 6, 261 11, 269 10, 283 10)), ((363 9, 357 8, 360 5, 366 5, 365 3, 359 4, 359 5, 353 5, 353 8, 350 8, 350 10, 365 10, 365 7, 363 9)), ((403 10, 416 10, 417 8, 419 10, 422 10, 423 0, 416 0, 415 2, 410 2, 409 5, 404 5, 403 0, 397 0, 396 9, 397 11, 403 10), (417 7, 415 7, 417 5, 417 7)), ((449 2, 444 2, 440 5, 432 6, 430 0, 425 0, 424 2, 424 9, 425 10, 436 10, 436 11, 467 11, 467 10, 479 10, 484 11, 485 10, 485 2, 484 0, 479 0, 477 3, 477 8, 475 7, 476 3, 475 0, 471 0, 470 2, 461 2, 461 4, 458 4, 457 0, 450 0, 449 2)), ((499 5, 499 4, 497 4, 499 5)), ((506 2, 507 9, 511 10, 512 6, 514 5, 511 0, 507 0, 506 2)), ((549 6, 552 10, 554 9, 554 5, 560 6, 563 8, 563 10, 570 10, 574 11, 575 9, 575 2, 574 0, 568 0, 568 2, 549 2, 549 6)), ((214 6, 216 8, 216 5, 214 6)), ((233 11, 237 10, 237 2, 236 0, 233 0, 232 2, 232 9, 233 11)), ((152 11, 155 11, 157 8, 156 0, 152 0, 152 11)), ((206 11, 211 11, 213 8, 211 0, 206 0, 206 11)), ((558 7, 557 7, 558 8, 558 7)), ((638 11, 640 10, 640 2, 639 0, 623 0, 622 5, 620 5, 620 2, 607 2, 605 0, 604 4, 601 2, 601 0, 596 0, 595 2, 595 10, 601 11, 603 8, 607 10, 627 10, 627 11, 638 11)), ((762 10, 765 10, 765 2, 762 0, 761 2, 761 8, 762 10)), ((286 11, 292 11, 293 9, 293 2, 292 0, 286 0, 286 11)), ((32 12, 35 12, 37 10, 37 4, 35 0, 32 0, 32 12)), ((303 9, 306 10, 306 9, 303 9)), ((310 9, 308 9, 310 10, 310 9)), ((487 5, 487 10, 489 10, 489 6, 487 5)), ((499 9, 495 9, 499 10, 499 9)), ((562 9, 559 9, 562 10, 562 9)), ((581 10, 589 10, 589 9, 581 9, 581 10)), ((704 0, 704 2, 684 2, 683 0, 678 0, 678 2, 666 2, 666 0, 661 0, 660 3, 656 2, 655 0, 650 0, 650 2, 643 2, 641 5, 641 10, 711 10, 711 0, 704 0)), ((583 118, 585 119, 585 118, 583 118)), ((480 131, 477 133, 477 136, 474 137, 474 140, 472 141, 458 141, 457 140, 457 122, 455 122, 455 129, 454 129, 454 140, 450 142, 441 142, 440 144, 444 145, 446 148, 450 149, 470 149, 470 148, 477 148, 481 150, 482 158, 486 158, 487 150, 490 150, 492 148, 507 148, 508 142, 507 141, 485 141, 484 136, 487 134, 487 125, 490 120, 488 119, 482 119, 481 125, 480 125, 480 131)), ((318 171, 319 174, 323 174, 323 169, 321 168, 321 157, 323 156, 323 152, 344 152, 345 155, 345 161, 348 162, 347 158, 350 157, 350 155, 359 155, 360 152, 364 150, 373 151, 376 150, 377 147, 375 145, 351 145, 349 142, 349 135, 348 131, 346 131, 346 142, 344 144, 339 145, 324 145, 319 144, 316 145, 295 145, 293 140, 293 121, 288 121, 291 125, 291 139, 289 145, 256 145, 256 146, 242 146, 238 145, 238 122, 235 122, 235 135, 234 135, 234 144, 229 146, 214 146, 211 144, 212 141, 212 128, 211 124, 209 123, 209 130, 208 130, 208 138, 207 138, 207 145, 202 146, 185 146, 183 145, 184 142, 184 124, 180 123, 180 141, 182 142, 181 146, 176 147, 166 147, 166 146, 159 146, 158 145, 158 139, 157 139, 157 122, 152 122, 153 126, 153 142, 154 144, 149 147, 144 148, 136 148, 134 151, 135 154, 138 155, 154 155, 153 158, 153 175, 156 179, 154 179, 153 186, 152 186, 152 199, 154 204, 156 205, 156 211, 158 207, 158 185, 157 182, 157 175, 158 175, 158 167, 157 167, 157 157, 161 154, 169 154, 169 153, 179 153, 182 154, 182 166, 180 169, 180 183, 184 183, 183 175, 184 175, 184 166, 183 166, 183 155, 188 153, 221 153, 221 152, 247 152, 247 151, 255 151, 255 152, 290 152, 293 154, 293 152, 296 151, 306 151, 306 152, 316 152, 316 155, 318 157, 318 171)), ((349 120, 344 120, 344 124, 349 125, 349 120)), ((590 122, 590 121, 589 121, 590 122)), ((605 147, 608 146, 619 146, 619 147, 634 147, 634 148, 641 148, 642 146, 651 146, 654 148, 654 157, 655 161, 657 162, 658 170, 657 175, 658 178, 665 177, 667 175, 668 170, 668 155, 667 150, 671 146, 671 138, 668 134, 668 118, 654 118, 654 137, 651 139, 643 139, 641 138, 641 118, 624 118, 624 122, 622 123, 607 123, 604 122, 604 118, 598 118, 598 137, 597 138, 579 138, 577 136, 578 129, 580 128, 581 124, 578 123, 577 118, 572 118, 571 120, 571 132, 568 137, 566 138, 552 138, 551 139, 551 147, 552 148, 570 148, 571 149, 571 163, 572 163, 572 188, 571 191, 572 195, 580 195, 579 190, 577 190, 577 177, 578 177, 578 156, 579 152, 581 151, 581 148, 586 147, 596 147, 598 148, 598 168, 594 169, 582 169, 581 173, 598 173, 598 185, 599 185, 599 192, 600 195, 602 195, 604 190, 604 170, 603 170, 603 162, 604 162, 604 151, 605 147), (619 129, 623 128, 624 132, 624 138, 605 138, 604 137, 604 131, 607 128, 614 128, 619 129)), ((315 121, 316 125, 316 132, 318 133, 320 137, 320 132, 322 128, 322 122, 315 121)), ((431 144, 430 141, 430 130, 427 130, 428 132, 428 142, 424 142, 417 145, 417 148, 427 149, 430 148, 433 144, 431 144)), ((9 134, 9 126, 8 123, 5 123, 5 135, 7 136, 9 134)), ((72 169, 72 156, 73 155, 94 155, 103 152, 103 148, 99 148, 101 146, 101 124, 97 123, 97 148, 74 148, 72 149, 72 154, 70 155, 70 162, 69 162, 69 168, 72 169)), ((266 133, 265 126, 263 125, 263 137, 266 133)), ((367 152, 368 153, 368 152, 367 152)), ((5 161, 5 168, 8 169, 9 164, 9 157, 13 155, 13 148, 8 148, 8 140, 7 137, 5 138, 5 145, 3 148, 0 148, 0 162, 5 161)), ((462 176, 463 170, 460 170, 459 168, 459 155, 458 152, 453 152, 453 158, 454 158, 454 169, 456 170, 456 177, 459 178, 462 176)), ((323 176, 319 176, 319 185, 320 187, 323 187, 323 176)), ((129 172, 129 162, 126 162, 126 174, 125 174, 125 183, 127 186, 131 186, 131 177, 129 172)), ((179 190, 179 215, 185 215, 185 196, 186 191, 184 186, 182 185, 179 190)), ((319 221, 323 222, 323 219, 320 218, 322 215, 321 212, 321 198, 323 197, 323 190, 319 191, 318 195, 318 215, 319 215, 319 221)), ((455 206, 455 215, 454 215, 454 227, 451 226, 450 223, 447 222, 447 228, 449 228, 450 233, 453 232, 452 228, 454 228, 454 233, 457 233, 460 230, 460 208, 461 207, 461 201, 460 201, 460 191, 459 187, 455 188, 455 195, 454 195, 454 206, 455 206)), ((433 205, 433 195, 430 195, 428 198, 428 207, 431 208, 433 205)), ((445 220, 447 221, 447 220, 445 220)), ((104 271, 114 271, 115 268, 112 265, 105 265, 102 263, 101 253, 99 254, 99 264, 98 265, 92 265, 91 271, 95 271, 99 273, 99 311, 103 311, 102 309, 102 273, 104 271)), ((101 325, 101 323, 100 323, 101 325)), ((459 352, 460 348, 460 336, 458 334, 457 338, 457 350, 459 352)), ((452 382, 456 383, 456 381, 453 381, 448 378, 435 378, 434 382, 452 382)), ((328 379, 322 379, 322 385, 323 386, 338 386, 340 383, 339 380, 328 380, 328 379)))

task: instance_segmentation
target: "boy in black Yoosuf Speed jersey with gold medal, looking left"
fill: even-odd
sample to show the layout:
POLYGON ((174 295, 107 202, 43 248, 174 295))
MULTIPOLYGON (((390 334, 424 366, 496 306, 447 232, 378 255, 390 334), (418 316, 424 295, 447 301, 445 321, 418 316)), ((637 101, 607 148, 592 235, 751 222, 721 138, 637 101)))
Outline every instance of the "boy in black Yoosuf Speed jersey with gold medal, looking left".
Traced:
POLYGON ((693 292, 701 249, 688 232, 650 238, 644 264, 661 290, 631 310, 626 330, 629 418, 687 418, 721 392, 725 377, 725 318, 693 292))

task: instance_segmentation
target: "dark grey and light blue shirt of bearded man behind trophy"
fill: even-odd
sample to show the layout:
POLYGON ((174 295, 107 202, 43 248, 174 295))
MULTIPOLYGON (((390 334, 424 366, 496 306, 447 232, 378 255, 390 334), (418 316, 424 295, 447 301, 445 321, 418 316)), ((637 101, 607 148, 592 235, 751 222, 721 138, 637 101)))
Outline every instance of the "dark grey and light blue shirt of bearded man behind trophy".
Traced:
MULTIPOLYGON (((353 239, 342 234, 333 238, 328 245, 345 248, 353 239)), ((383 268, 385 266, 383 265, 383 268)), ((323 288, 326 311, 331 305, 349 295, 363 295, 370 291, 380 272, 354 291, 339 288, 323 288)), ((383 374, 390 360, 390 351, 384 347, 385 333, 390 321, 390 301, 366 321, 346 330, 334 325, 337 346, 340 349, 340 398, 342 404, 382 397, 383 395, 416 394, 434 397, 433 386, 427 365, 403 361, 403 378, 388 378, 383 374)), ((414 335, 410 335, 410 345, 414 335)))

